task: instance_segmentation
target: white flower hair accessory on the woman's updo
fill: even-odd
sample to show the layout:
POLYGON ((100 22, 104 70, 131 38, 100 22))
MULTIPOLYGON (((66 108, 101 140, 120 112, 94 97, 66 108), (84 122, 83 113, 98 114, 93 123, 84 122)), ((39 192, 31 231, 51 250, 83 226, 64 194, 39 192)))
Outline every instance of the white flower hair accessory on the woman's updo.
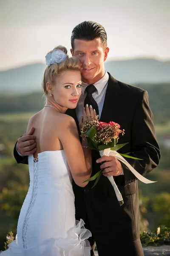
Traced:
POLYGON ((50 66, 51 64, 61 63, 67 58, 67 54, 63 52, 62 50, 55 50, 53 52, 48 52, 45 56, 46 64, 47 66, 50 66))

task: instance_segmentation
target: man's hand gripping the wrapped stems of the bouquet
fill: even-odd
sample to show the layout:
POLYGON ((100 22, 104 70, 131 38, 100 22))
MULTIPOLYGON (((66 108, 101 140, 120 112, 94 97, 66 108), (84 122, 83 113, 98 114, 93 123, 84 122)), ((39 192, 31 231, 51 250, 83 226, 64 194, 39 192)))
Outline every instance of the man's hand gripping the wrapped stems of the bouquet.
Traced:
POLYGON ((101 169, 105 168, 103 170, 104 176, 119 176, 122 174, 122 165, 121 163, 116 159, 116 157, 113 156, 104 156, 96 160, 96 163, 102 163, 100 166, 101 169), (105 163, 102 163, 104 161, 107 161, 105 163))

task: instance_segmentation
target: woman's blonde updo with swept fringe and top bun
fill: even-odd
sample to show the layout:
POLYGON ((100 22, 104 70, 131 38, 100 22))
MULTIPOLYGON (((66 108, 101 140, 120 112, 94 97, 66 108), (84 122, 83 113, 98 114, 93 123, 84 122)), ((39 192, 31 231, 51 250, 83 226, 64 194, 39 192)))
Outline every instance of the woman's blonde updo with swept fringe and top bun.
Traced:
MULTIPOLYGON (((67 54, 67 49, 62 45, 55 47, 50 52, 53 52, 55 50, 62 50, 63 52, 65 52, 67 54)), ((50 66, 46 67, 44 76, 42 79, 42 91, 45 96, 47 96, 47 94, 48 94, 48 91, 46 90, 47 82, 54 84, 56 77, 61 75, 62 72, 65 70, 80 71, 79 59, 76 57, 69 58, 68 54, 67 54, 67 58, 65 58, 65 60, 62 61, 61 63, 54 63, 54 64, 51 64, 50 66)))

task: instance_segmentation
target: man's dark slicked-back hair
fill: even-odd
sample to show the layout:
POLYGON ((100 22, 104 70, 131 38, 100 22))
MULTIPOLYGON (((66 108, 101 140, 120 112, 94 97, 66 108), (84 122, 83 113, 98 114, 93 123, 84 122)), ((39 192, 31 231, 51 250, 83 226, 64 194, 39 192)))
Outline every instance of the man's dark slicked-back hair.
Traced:
POLYGON ((92 41, 95 38, 100 38, 103 47, 107 47, 107 34, 104 27, 94 21, 83 21, 75 26, 71 33, 71 47, 74 49, 74 39, 92 41))

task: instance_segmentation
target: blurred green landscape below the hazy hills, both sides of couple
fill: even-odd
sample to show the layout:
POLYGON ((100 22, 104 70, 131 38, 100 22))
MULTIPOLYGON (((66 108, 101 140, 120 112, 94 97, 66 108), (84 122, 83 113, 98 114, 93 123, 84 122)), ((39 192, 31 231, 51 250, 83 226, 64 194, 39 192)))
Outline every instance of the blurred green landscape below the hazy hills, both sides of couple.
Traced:
MULTIPOLYGON (((164 136, 170 134, 170 85, 137 86, 149 93, 157 139, 161 145, 161 162, 147 175, 148 179, 158 182, 138 182, 141 230, 144 231, 148 228, 154 230, 161 224, 170 227, 170 148, 163 145, 164 136)), ((0 250, 3 250, 8 230, 16 234, 17 220, 29 186, 28 166, 16 163, 13 148, 17 138, 26 132, 29 118, 43 108, 44 102, 42 93, 0 96, 0 144, 4 145, 3 151, 0 151, 4 154, 0 156, 0 250)), ((168 230, 164 230, 164 235, 168 230)), ((156 236, 156 231, 153 233, 156 236)), ((143 233, 144 239, 148 237, 151 237, 150 231, 145 235, 143 233)), ((161 238, 158 240, 162 241, 161 238)))

